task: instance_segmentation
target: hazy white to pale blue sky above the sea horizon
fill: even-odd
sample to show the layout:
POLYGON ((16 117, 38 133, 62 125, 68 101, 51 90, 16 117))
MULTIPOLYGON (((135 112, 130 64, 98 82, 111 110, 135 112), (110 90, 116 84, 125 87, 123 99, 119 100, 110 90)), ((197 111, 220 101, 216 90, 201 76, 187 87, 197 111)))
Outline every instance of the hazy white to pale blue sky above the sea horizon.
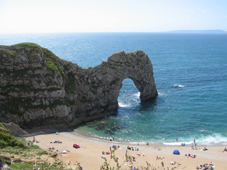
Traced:
POLYGON ((0 33, 227 31, 227 0, 0 0, 0 33))

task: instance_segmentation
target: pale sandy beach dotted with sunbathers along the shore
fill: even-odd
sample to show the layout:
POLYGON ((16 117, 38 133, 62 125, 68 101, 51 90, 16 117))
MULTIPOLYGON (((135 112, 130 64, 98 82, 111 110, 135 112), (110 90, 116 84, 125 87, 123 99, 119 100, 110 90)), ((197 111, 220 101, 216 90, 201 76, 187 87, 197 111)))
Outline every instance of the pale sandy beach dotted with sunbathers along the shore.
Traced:
MULTIPOLYGON (((33 133, 29 133, 26 140, 33 140, 33 137, 39 142, 35 143, 42 149, 49 150, 54 147, 53 152, 57 152, 57 158, 67 164, 67 168, 76 168, 76 163, 79 162, 84 170, 100 169, 104 160, 102 157, 106 157, 110 160, 110 155, 103 155, 102 151, 110 151, 110 147, 113 145, 119 147, 115 151, 115 155, 119 158, 121 169, 130 169, 130 165, 142 169, 147 167, 146 162, 151 164, 151 167, 161 169, 161 162, 164 163, 165 169, 167 167, 172 169, 184 169, 193 170, 196 166, 201 164, 215 165, 215 170, 227 169, 227 152, 222 152, 226 147, 224 145, 212 145, 205 146, 208 150, 203 151, 204 145, 198 145, 197 149, 192 149, 191 145, 186 146, 167 146, 167 145, 130 145, 127 143, 119 143, 118 141, 100 140, 85 137, 74 132, 59 132, 57 135, 55 132, 44 133, 45 130, 34 130, 33 133), (53 141, 60 141, 62 143, 53 143, 53 141), (51 143, 52 142, 52 143, 51 143), (73 148, 73 144, 78 144, 79 149, 73 148), (127 146, 139 148, 138 151, 132 151, 127 149, 127 146), (62 154, 63 151, 69 150, 70 152, 62 154), (135 162, 125 162, 125 154, 127 150, 128 156, 135 157, 135 162), (173 151, 179 150, 180 155, 174 155, 173 151), (141 154, 141 156, 139 156, 141 154), (185 154, 196 155, 195 158, 191 156, 185 156, 185 154), (144 156, 142 156, 144 155, 144 156), (159 159, 157 159, 159 157, 159 159), (170 162, 176 162, 175 165, 171 165, 170 162)), ((180 141, 179 141, 180 143, 180 141)), ((116 166, 114 160, 111 160, 110 165, 116 166)), ((151 169, 151 168, 150 168, 151 169)))

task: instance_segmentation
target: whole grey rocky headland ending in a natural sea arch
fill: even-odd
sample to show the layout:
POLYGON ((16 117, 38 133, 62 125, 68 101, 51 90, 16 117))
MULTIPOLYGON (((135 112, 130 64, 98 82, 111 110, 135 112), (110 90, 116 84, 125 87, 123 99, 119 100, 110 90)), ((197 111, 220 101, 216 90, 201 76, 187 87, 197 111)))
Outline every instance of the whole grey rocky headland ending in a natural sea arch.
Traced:
POLYGON ((142 101, 157 96, 151 61, 140 50, 82 69, 33 43, 0 46, 0 121, 73 126, 107 116, 118 107, 125 78, 142 101))

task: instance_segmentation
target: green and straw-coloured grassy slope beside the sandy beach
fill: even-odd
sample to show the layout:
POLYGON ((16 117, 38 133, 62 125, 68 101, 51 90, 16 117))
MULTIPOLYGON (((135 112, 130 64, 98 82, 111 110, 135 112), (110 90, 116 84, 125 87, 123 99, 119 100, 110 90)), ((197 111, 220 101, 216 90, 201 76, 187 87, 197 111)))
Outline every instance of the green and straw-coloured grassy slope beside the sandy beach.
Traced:
POLYGON ((0 141, 1 144, 5 144, 0 147, 0 162, 8 164, 12 169, 33 169, 34 162, 41 170, 65 169, 61 166, 62 162, 52 156, 55 154, 53 151, 42 150, 31 141, 14 137, 2 122, 0 122, 0 141), (28 142, 30 146, 25 145, 28 142), (52 161, 47 162, 47 159, 52 161), (13 164, 11 164, 12 160, 13 164))

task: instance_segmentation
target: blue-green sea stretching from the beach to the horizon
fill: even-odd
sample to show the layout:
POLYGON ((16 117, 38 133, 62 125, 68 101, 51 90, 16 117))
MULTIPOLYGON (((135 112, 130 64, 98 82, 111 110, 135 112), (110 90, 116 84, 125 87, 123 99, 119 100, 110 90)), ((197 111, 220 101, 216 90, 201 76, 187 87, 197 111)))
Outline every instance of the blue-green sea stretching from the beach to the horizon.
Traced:
POLYGON ((79 133, 131 143, 227 144, 227 34, 0 34, 1 45, 20 42, 37 43, 83 68, 122 50, 148 54, 158 97, 141 103, 133 81, 125 79, 118 114, 80 126, 79 133))

